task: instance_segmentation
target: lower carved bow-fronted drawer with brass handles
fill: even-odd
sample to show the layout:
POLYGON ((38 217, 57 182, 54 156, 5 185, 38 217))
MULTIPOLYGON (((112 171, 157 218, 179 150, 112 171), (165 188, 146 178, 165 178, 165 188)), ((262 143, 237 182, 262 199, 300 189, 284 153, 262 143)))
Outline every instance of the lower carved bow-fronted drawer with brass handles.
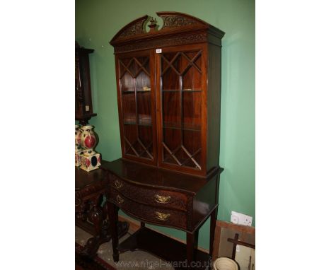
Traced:
POLYGON ((115 189, 110 190, 109 199, 124 212, 141 218, 146 222, 182 229, 187 228, 186 213, 183 211, 139 204, 139 202, 128 199, 115 189))

